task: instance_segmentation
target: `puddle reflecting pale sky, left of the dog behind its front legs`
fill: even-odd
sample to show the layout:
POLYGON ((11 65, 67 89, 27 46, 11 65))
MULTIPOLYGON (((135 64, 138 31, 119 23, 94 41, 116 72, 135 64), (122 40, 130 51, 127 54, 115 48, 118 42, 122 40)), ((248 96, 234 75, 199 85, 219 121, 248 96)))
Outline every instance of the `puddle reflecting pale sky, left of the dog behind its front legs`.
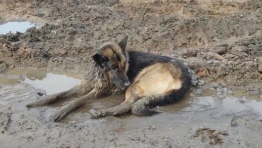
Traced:
POLYGON ((46 95, 68 90, 79 84, 80 81, 80 75, 72 73, 61 74, 59 72, 47 73, 45 70, 11 70, 5 76, 0 77, 0 84, 27 83, 36 89, 42 89, 46 95))

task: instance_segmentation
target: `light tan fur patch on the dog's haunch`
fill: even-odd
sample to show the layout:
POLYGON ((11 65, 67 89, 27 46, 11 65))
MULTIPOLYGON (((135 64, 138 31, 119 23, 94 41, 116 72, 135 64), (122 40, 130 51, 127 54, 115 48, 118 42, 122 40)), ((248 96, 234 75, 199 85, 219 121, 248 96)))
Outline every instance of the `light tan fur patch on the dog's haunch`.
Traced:
POLYGON ((141 98, 178 90, 182 86, 180 75, 180 70, 169 63, 157 63, 147 67, 137 75, 128 88, 126 99, 132 98, 131 93, 141 98))

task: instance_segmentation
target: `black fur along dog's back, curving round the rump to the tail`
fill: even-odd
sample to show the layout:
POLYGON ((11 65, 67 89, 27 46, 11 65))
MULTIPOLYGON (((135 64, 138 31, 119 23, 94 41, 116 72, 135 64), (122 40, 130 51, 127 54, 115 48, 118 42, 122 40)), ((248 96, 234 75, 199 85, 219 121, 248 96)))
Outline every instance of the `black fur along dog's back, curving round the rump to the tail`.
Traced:
MULTIPOLYGON (((129 71, 127 73, 131 82, 133 82, 136 75, 144 68, 151 66, 156 63, 173 63, 176 67, 180 68, 182 86, 179 90, 176 90, 170 94, 163 94, 161 96, 152 96, 150 98, 143 98, 140 102, 140 109, 135 109, 139 111, 140 114, 143 115, 152 115, 157 113, 156 111, 150 111, 150 108, 154 108, 156 106, 166 106, 169 104, 173 104, 181 100, 187 90, 191 85, 191 76, 188 73, 186 66, 171 57, 155 55, 152 53, 138 52, 138 51, 128 51, 129 54, 129 71)), ((137 102, 138 103, 138 102, 137 102)), ((138 114, 139 114, 138 113, 138 114)))

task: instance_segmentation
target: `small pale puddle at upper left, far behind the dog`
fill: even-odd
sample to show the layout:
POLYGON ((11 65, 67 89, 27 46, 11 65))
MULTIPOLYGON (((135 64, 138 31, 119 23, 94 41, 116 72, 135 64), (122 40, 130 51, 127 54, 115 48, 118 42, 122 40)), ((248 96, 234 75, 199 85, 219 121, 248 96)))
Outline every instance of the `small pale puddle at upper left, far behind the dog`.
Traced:
POLYGON ((8 22, 5 24, 0 25, 0 34, 7 34, 9 32, 11 33, 24 33, 28 28, 36 26, 33 23, 30 23, 28 21, 25 22, 8 22))

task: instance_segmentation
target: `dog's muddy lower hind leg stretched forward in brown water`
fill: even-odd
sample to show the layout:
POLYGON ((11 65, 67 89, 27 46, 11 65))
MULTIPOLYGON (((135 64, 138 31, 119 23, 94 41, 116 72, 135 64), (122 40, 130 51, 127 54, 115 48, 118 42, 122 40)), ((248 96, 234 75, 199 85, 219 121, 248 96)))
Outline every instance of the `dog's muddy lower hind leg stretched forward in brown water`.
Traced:
POLYGON ((96 111, 92 114, 91 118, 99 118, 104 117, 107 115, 117 115, 121 113, 125 113, 131 110, 133 102, 130 100, 127 100, 123 103, 121 103, 118 106, 115 106, 113 108, 103 109, 96 111))

